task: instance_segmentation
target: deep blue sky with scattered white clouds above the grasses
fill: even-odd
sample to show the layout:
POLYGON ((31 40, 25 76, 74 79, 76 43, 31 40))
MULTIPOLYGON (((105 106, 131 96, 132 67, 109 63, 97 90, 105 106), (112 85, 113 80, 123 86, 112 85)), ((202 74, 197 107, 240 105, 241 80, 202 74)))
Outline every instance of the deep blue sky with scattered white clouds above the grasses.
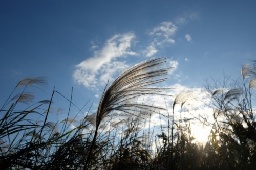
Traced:
MULTIPOLYGON (((1 1, 3 103, 25 77, 46 77, 82 108, 141 61, 169 57, 164 86, 201 90, 205 78, 240 76, 256 56, 255 1, 1 1)), ((37 98, 36 98, 37 99, 37 98)), ((62 100, 54 98, 56 105, 62 100)), ((170 104, 171 105, 171 104, 170 104)), ((88 109, 89 107, 86 107, 88 109)))

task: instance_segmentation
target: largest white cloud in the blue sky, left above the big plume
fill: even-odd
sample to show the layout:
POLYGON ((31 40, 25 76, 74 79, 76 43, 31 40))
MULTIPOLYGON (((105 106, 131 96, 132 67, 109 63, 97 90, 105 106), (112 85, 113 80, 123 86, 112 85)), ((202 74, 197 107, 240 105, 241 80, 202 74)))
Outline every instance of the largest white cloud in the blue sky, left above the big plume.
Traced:
POLYGON ((115 60, 118 57, 136 55, 130 49, 134 39, 135 34, 131 32, 116 34, 108 39, 101 49, 94 51, 93 57, 76 65, 73 74, 75 82, 85 87, 96 87, 112 80, 113 74, 127 68, 125 62, 115 60))

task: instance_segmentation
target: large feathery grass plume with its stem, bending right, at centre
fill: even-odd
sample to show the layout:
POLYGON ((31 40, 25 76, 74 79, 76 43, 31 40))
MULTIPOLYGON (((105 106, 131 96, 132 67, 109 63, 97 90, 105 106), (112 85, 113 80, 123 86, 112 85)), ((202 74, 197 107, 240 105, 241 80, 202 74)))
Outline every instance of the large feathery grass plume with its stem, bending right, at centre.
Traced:
POLYGON ((134 115, 134 113, 139 113, 141 110, 155 112, 154 109, 158 107, 146 104, 137 104, 136 102, 133 102, 132 99, 136 99, 139 96, 148 94, 163 95, 162 91, 166 88, 147 86, 160 83, 167 79, 165 77, 162 78, 161 76, 166 76, 168 73, 167 71, 170 68, 156 68, 156 66, 159 66, 160 64, 163 64, 166 61, 167 58, 157 58, 139 63, 133 66, 132 68, 124 71, 110 85, 108 89, 106 89, 105 87, 96 113, 95 134, 84 169, 88 168, 87 165, 90 162, 93 145, 96 141, 97 131, 101 123, 101 120, 104 117, 106 117, 114 110, 122 111, 132 115, 134 115), (154 80, 153 78, 157 79, 154 80))

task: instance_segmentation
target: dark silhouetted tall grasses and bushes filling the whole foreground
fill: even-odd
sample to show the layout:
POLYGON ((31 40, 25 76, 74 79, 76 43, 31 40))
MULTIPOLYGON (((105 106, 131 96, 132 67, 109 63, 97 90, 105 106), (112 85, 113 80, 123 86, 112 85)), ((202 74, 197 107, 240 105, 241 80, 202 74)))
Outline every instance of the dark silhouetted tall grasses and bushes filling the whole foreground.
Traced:
MULTIPOLYGON (((190 119, 174 118, 174 107, 183 107, 186 93, 165 111, 166 103, 158 108, 137 100, 145 95, 169 97, 166 88, 154 86, 171 69, 161 67, 164 62, 165 58, 153 59, 123 72, 105 88, 97 112, 92 114, 86 105, 89 111, 79 122, 75 122, 79 114, 74 116, 70 110, 65 119, 59 118, 61 109, 51 110, 54 96, 62 96, 55 90, 50 100, 27 107, 34 98, 28 90, 45 86, 46 81, 40 77, 21 80, 0 110, 0 168, 255 169, 255 66, 244 65, 236 81, 227 77, 206 81, 210 116, 198 121, 212 130, 207 143, 198 143, 191 135, 190 119), (16 94, 18 90, 21 93, 16 94), (153 114, 167 122, 158 134, 151 125, 153 114)), ((65 99, 69 109, 76 107, 65 99)))

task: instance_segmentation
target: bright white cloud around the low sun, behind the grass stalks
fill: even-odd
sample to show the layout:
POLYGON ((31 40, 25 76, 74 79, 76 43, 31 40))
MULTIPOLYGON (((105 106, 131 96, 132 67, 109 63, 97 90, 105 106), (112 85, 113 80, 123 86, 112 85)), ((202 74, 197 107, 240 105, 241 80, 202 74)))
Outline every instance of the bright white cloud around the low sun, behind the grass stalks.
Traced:
MULTIPOLYGON (((145 96, 140 96, 138 99, 134 99, 134 100, 136 100, 137 103, 144 103, 147 105, 166 109, 166 110, 157 109, 156 111, 160 113, 160 116, 161 115, 168 116, 169 114, 169 116, 171 117, 175 98, 180 93, 185 94, 184 95, 185 103, 183 101, 183 98, 180 98, 180 102, 178 102, 177 105, 175 105, 175 108, 174 108, 175 120, 179 120, 180 118, 191 119, 189 120, 189 124, 192 129, 193 135, 196 137, 196 140, 198 140, 199 142, 206 142, 207 136, 210 133, 210 128, 207 126, 203 127, 203 124, 198 121, 198 118, 200 118, 199 115, 204 116, 205 113, 212 112, 210 108, 205 107, 209 103, 209 99, 207 100, 207 96, 208 96, 207 93, 205 93, 202 88, 197 88, 197 87, 190 88, 187 86, 183 86, 181 84, 174 84, 174 85, 168 86, 167 88, 169 89, 165 91, 166 92, 165 94, 168 94, 169 96, 145 95, 145 96), (186 93, 188 95, 191 94, 191 96, 189 96, 189 99, 186 97, 186 93), (184 103, 182 106, 182 109, 181 109, 181 103, 184 103), (198 133, 198 130, 200 128, 202 129, 201 131, 202 133, 198 133)), ((165 116, 161 116, 161 119, 159 118, 159 114, 157 113, 154 113, 151 116, 150 125, 151 125, 151 128, 153 127, 156 128, 155 133, 159 133, 157 132, 158 131, 157 129, 160 126, 163 127, 163 130, 165 132, 167 131, 168 119, 165 116)), ((209 117, 207 121, 212 122, 214 121, 214 119, 209 117)), ((147 124, 146 127, 148 126, 149 124, 147 124)), ((181 126, 185 126, 185 123, 182 122, 181 126)))

